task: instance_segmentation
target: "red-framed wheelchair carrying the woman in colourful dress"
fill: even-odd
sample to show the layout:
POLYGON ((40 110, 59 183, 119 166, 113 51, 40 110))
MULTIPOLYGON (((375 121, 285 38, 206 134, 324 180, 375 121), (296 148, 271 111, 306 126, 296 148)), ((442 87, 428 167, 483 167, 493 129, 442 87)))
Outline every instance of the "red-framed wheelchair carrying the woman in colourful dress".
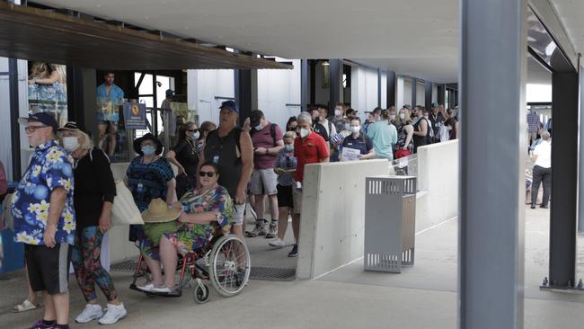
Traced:
MULTIPOLYGON (((223 297, 239 294, 250 278, 250 253, 245 243, 234 235, 214 236, 208 245, 195 251, 179 254, 176 275, 178 287, 170 293, 143 291, 137 288, 138 280, 150 281, 150 271, 144 256, 138 257, 134 277, 129 288, 146 293, 148 297, 181 297, 182 289, 194 287, 193 297, 199 304, 208 302, 209 284, 223 297), (207 282, 204 282, 207 281, 207 282), (194 284, 191 284, 194 282, 194 284)), ((165 271, 165 269, 163 269, 165 271)))

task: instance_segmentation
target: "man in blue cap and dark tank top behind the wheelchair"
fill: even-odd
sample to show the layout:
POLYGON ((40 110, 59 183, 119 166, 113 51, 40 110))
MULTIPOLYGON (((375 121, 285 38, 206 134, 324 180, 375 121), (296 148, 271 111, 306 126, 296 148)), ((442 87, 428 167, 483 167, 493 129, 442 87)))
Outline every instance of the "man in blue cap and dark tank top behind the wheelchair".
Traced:
POLYGON ((209 131, 207 135, 198 172, 200 165, 207 161, 219 166, 219 185, 225 187, 234 200, 232 232, 243 240, 245 188, 253 170, 252 138, 237 127, 239 110, 234 101, 222 102, 219 110, 219 128, 209 131))

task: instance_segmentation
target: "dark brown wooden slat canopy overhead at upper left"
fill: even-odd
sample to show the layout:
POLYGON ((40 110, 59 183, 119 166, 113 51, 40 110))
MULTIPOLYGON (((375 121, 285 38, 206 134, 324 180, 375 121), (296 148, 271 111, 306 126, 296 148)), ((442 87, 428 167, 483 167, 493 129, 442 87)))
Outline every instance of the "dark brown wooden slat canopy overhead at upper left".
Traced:
POLYGON ((4 1, 0 1, 0 56, 111 70, 292 68, 4 1))

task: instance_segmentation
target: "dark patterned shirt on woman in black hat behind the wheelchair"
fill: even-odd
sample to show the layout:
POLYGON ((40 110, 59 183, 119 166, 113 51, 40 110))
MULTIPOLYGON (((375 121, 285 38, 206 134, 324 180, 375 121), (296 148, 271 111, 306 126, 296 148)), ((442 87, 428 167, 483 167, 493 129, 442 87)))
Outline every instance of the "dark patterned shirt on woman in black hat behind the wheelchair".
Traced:
POLYGON ((166 183, 174 178, 173 168, 164 157, 144 164, 142 156, 132 160, 126 172, 129 191, 140 211, 148 208, 151 200, 166 200, 166 183))

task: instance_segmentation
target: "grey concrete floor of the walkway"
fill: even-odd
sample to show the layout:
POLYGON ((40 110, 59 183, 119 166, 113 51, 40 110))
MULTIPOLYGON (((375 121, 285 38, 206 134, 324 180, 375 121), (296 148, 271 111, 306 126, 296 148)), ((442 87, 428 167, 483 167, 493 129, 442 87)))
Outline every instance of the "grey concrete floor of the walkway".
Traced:
MULTIPOLYGON (((526 209, 526 328, 575 328, 584 323, 581 294, 539 291, 547 271, 549 212, 526 209)), ((266 239, 249 241, 254 266, 288 266, 288 248, 268 251, 266 239), (281 254, 280 254, 281 253, 281 254), (286 258, 284 258, 286 257, 286 258), (278 258, 278 259, 276 259, 278 258)), ((579 240, 579 243, 581 239, 579 240)), ((581 245, 581 244, 579 244, 581 245)), ((580 253, 582 254, 582 253, 580 253)), ((579 276, 582 266, 579 266, 579 276)), ((456 328, 456 220, 417 236, 416 264, 402 274, 362 271, 355 262, 319 280, 253 280, 242 294, 222 298, 212 292, 197 305, 185 291, 181 298, 147 298, 128 289, 128 273, 113 274, 129 315, 115 327, 229 328, 456 328)), ((72 317, 84 307, 72 278, 72 317)), ((0 329, 25 328, 41 310, 10 312, 25 297, 22 272, 0 276, 0 329)), ((102 297, 100 297, 102 300, 102 297)), ((97 323, 73 325, 97 328, 97 323)))

